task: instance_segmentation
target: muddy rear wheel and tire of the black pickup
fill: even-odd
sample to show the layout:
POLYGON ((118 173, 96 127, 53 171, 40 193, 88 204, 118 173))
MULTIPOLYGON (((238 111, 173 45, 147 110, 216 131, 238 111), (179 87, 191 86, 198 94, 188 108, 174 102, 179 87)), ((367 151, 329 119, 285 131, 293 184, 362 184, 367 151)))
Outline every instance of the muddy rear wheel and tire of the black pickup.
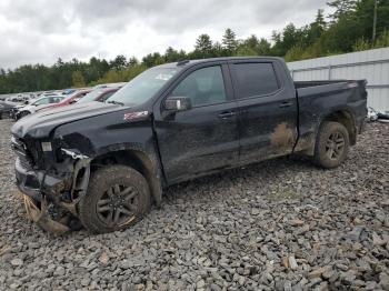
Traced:
POLYGON ((350 148, 349 132, 341 123, 325 121, 319 129, 315 146, 315 162, 325 169, 339 167, 350 148))

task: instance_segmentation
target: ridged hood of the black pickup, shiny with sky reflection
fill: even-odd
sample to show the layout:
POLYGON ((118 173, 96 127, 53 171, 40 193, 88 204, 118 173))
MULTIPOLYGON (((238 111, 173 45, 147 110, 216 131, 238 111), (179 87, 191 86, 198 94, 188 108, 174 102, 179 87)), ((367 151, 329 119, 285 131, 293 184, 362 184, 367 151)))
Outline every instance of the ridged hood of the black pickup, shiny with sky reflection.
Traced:
POLYGON ((128 109, 118 104, 108 104, 102 102, 90 102, 59 107, 43 110, 31 116, 22 118, 12 127, 12 133, 19 138, 29 136, 31 138, 46 138, 59 126, 87 119, 96 116, 107 114, 119 110, 128 109))

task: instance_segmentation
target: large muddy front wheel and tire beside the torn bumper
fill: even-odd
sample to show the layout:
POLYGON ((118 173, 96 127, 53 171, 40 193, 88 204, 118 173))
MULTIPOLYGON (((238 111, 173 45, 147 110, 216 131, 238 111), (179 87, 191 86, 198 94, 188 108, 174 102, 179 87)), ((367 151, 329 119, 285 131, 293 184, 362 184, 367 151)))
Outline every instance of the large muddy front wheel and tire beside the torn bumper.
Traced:
POLYGON ((127 229, 140 221, 149 209, 150 189, 144 177, 126 165, 94 171, 87 194, 78 204, 81 223, 94 233, 127 229))

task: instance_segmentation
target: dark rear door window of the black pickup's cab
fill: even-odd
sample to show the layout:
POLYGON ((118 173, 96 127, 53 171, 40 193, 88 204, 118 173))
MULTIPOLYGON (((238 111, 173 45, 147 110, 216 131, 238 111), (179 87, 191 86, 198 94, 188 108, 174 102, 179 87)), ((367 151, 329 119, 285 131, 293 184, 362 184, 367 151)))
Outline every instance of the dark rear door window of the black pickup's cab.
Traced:
POLYGON ((269 94, 280 88, 270 62, 236 63, 235 72, 239 99, 269 94))

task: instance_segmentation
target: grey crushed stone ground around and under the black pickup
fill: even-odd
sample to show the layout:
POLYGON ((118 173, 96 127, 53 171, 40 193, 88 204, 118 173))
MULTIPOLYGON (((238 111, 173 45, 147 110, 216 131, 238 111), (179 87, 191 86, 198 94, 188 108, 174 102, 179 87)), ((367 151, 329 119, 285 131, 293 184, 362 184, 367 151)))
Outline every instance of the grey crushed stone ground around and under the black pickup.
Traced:
POLYGON ((56 238, 26 218, 0 120, 0 290, 389 290, 389 124, 321 170, 283 158, 181 183, 136 227, 56 238))

